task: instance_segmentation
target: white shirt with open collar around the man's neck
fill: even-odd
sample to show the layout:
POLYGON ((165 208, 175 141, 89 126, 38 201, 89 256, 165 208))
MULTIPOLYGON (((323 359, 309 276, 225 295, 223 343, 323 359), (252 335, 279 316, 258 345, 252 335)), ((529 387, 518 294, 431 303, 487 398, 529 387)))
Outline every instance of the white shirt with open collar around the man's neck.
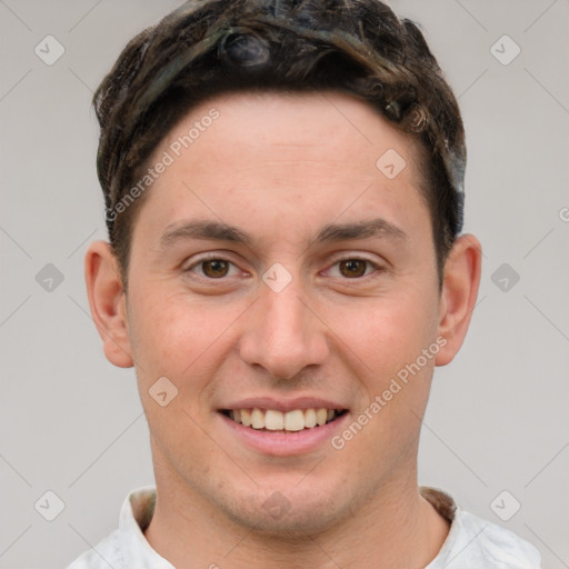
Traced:
MULTIPOLYGON (((539 551, 516 533, 458 508, 435 488, 421 495, 450 522, 439 555, 425 569, 540 569, 539 551)), ((144 538, 152 519, 156 489, 131 492, 120 512, 119 529, 86 551, 68 569, 174 569, 144 538)))

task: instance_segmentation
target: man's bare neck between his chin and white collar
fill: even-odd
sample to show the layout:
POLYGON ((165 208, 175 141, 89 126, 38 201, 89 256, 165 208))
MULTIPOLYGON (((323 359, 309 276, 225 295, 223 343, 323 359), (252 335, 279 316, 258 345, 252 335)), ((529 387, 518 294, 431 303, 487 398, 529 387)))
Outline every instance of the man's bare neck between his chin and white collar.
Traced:
POLYGON ((420 496, 413 475, 386 483, 326 530, 290 537, 243 528, 181 480, 172 483, 157 472, 158 497, 146 538, 177 569, 421 569, 439 552, 449 525, 420 496))

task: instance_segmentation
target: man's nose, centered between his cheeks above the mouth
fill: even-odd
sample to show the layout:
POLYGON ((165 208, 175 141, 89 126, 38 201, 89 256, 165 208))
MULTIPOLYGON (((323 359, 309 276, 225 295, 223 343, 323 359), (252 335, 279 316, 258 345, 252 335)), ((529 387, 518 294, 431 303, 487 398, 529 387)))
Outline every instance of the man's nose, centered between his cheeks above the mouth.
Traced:
POLYGON ((293 379, 309 366, 326 361, 326 327, 301 292, 295 281, 280 292, 261 284, 261 298, 247 316, 239 345, 247 365, 276 379, 293 379))

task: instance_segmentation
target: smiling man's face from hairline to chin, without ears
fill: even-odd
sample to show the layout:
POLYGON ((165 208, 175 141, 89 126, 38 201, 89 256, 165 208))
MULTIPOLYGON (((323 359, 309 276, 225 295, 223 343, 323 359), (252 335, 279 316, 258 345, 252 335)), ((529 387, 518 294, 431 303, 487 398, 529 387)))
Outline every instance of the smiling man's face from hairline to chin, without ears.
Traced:
POLYGON ((150 164, 164 152, 124 342, 158 485, 268 532, 380 507, 415 481, 449 350, 411 141, 343 94, 240 93, 193 109, 150 164), (395 177, 377 166, 393 150, 395 177))

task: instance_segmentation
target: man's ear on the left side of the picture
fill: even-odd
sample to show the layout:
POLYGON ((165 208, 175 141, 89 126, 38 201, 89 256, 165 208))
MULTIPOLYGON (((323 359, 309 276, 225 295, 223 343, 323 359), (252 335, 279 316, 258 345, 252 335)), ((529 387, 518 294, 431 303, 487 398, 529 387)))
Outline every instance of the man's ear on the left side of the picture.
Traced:
POLYGON ((131 368, 132 356, 127 326, 127 305, 117 258, 104 241, 89 246, 84 258, 89 306, 104 356, 119 368, 131 368))

